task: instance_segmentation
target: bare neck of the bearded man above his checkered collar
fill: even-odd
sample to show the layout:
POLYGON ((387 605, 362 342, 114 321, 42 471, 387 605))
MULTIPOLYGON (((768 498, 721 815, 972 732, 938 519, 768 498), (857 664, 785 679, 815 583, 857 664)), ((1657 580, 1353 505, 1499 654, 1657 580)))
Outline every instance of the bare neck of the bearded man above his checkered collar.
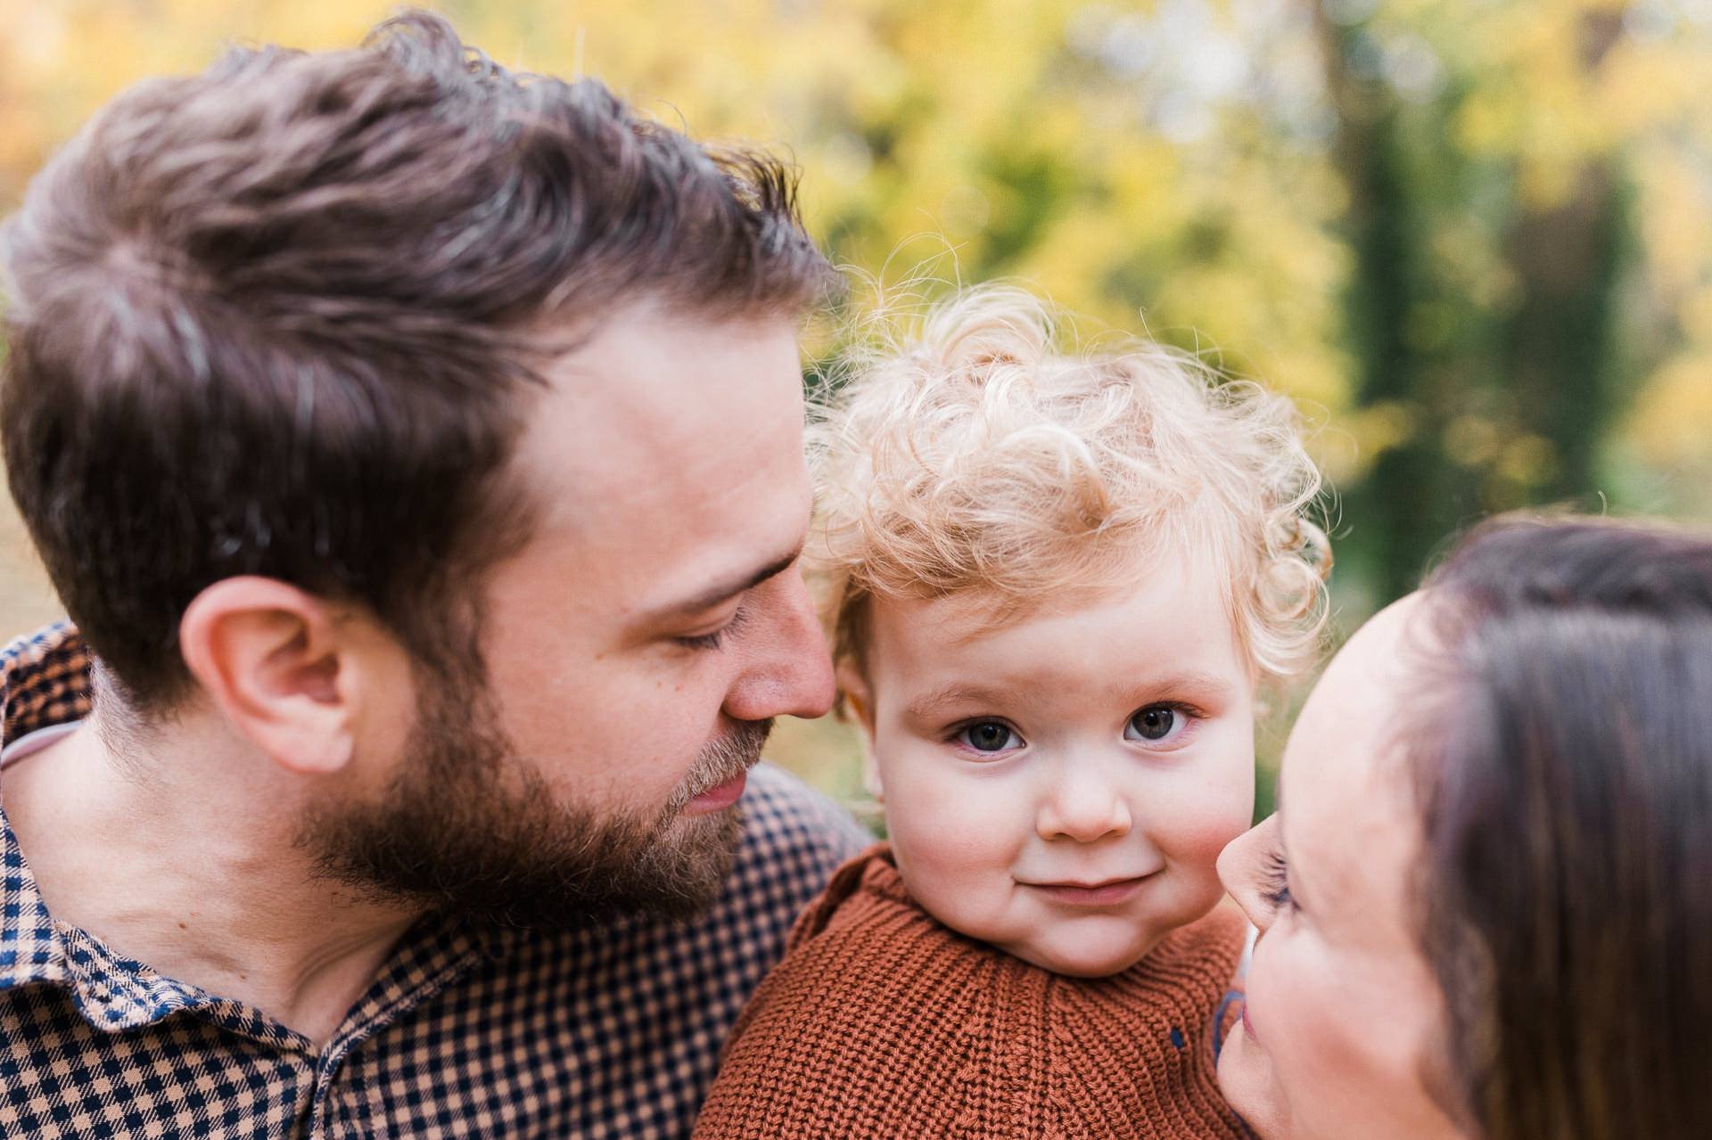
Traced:
POLYGON ((0 781, 50 912, 324 1044, 416 912, 317 876, 301 791, 238 741, 185 724, 137 751, 86 722, 0 781))

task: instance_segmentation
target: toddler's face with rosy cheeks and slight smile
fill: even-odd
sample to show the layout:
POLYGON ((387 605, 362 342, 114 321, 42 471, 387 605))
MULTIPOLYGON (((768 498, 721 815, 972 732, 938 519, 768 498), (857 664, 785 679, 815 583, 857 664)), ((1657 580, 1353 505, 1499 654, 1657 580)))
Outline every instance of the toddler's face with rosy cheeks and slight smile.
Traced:
POLYGON ((1190 567, 998 628, 990 603, 877 599, 846 678, 899 870, 952 929, 1118 972, 1219 900, 1253 811, 1248 666, 1190 567))

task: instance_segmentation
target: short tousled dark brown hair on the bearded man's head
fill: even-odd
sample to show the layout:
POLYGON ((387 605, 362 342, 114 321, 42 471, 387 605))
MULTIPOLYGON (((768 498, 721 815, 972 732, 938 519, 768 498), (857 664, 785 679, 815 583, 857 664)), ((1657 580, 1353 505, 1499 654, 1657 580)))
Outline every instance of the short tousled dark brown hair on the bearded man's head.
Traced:
POLYGON ((801 315, 832 270, 793 199, 426 14, 146 80, 0 236, 12 495, 137 705, 187 686, 183 611, 238 573, 430 654, 449 587, 527 532, 502 476, 538 365, 627 301, 801 315))

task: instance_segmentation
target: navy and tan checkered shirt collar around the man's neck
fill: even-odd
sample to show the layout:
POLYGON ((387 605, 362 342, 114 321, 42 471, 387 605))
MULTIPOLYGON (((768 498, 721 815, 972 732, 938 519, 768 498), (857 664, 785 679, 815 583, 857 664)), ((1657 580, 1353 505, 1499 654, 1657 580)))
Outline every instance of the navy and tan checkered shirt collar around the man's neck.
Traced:
MULTIPOLYGON (((0 748, 38 729, 82 719, 89 707, 89 650, 70 625, 48 626, 0 650, 0 748)), ((503 957, 519 938, 514 929, 423 917, 329 1042, 324 1063, 478 962, 503 957)), ((265 1013, 164 977, 87 931, 56 921, 0 808, 0 991, 29 984, 63 986, 84 1018, 108 1032, 185 1012, 277 1049, 315 1051, 313 1042, 265 1013)))

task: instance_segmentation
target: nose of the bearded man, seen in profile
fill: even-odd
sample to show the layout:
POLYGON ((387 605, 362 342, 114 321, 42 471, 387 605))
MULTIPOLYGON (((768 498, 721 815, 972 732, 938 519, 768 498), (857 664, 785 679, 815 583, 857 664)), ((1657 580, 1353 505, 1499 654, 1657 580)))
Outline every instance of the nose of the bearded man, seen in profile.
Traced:
POLYGON ((832 707, 832 657, 803 573, 791 567, 752 594, 743 671, 726 693, 736 721, 818 717, 832 707))

